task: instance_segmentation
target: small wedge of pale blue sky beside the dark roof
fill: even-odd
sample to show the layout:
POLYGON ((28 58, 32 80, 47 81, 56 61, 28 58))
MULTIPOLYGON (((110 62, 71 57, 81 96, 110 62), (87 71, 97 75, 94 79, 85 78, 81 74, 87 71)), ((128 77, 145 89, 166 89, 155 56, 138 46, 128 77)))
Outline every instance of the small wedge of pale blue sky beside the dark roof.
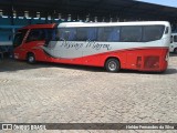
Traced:
POLYGON ((156 3, 156 4, 163 4, 163 6, 177 8, 177 0, 137 0, 137 1, 143 1, 143 2, 149 2, 149 3, 156 3))

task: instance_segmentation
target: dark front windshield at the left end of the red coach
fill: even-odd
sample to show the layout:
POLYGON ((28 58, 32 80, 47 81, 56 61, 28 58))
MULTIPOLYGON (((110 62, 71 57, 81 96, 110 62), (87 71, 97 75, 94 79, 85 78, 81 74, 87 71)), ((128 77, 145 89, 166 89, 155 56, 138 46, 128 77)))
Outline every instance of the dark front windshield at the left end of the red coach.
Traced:
POLYGON ((18 31, 18 33, 14 35, 13 47, 19 47, 22 43, 25 33, 27 30, 18 31))

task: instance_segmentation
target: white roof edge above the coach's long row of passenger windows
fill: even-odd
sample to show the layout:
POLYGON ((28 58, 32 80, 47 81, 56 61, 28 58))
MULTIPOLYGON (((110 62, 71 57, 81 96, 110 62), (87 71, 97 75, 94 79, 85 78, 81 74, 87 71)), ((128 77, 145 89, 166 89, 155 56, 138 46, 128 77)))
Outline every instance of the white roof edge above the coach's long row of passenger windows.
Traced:
POLYGON ((58 28, 67 28, 67 27, 112 27, 112 25, 154 25, 163 24, 169 25, 167 21, 136 21, 136 22, 63 22, 58 25, 58 28))

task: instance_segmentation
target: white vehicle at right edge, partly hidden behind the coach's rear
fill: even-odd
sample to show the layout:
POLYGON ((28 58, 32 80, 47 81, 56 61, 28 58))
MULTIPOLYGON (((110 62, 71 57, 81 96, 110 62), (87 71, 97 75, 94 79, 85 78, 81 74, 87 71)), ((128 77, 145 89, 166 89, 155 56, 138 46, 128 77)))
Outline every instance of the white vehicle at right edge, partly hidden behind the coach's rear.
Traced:
POLYGON ((169 52, 177 54, 177 33, 171 33, 169 52))

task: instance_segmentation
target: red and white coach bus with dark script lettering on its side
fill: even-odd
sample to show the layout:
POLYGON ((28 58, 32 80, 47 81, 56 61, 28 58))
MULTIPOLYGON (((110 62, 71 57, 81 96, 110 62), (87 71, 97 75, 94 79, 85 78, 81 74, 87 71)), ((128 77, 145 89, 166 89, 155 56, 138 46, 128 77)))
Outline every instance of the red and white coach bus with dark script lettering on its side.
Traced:
POLYGON ((32 24, 17 32, 14 59, 163 72, 170 32, 167 21, 32 24))

